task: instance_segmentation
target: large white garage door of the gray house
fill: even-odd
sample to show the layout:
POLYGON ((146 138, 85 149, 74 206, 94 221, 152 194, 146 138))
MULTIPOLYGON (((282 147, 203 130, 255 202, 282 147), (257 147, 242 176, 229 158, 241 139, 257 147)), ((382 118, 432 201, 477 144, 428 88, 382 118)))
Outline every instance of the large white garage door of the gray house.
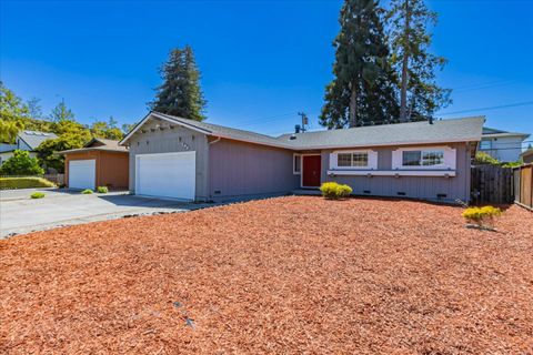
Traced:
POLYGON ((195 152, 137 155, 135 193, 194 200, 195 161, 195 152))

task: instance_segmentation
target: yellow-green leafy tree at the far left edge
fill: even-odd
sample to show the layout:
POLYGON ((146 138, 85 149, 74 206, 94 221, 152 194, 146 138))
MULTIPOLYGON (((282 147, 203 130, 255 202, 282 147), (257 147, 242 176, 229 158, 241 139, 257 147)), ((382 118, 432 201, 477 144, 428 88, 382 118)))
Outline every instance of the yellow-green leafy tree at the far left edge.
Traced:
POLYGON ((0 81, 0 142, 13 143, 26 119, 28 106, 0 81))

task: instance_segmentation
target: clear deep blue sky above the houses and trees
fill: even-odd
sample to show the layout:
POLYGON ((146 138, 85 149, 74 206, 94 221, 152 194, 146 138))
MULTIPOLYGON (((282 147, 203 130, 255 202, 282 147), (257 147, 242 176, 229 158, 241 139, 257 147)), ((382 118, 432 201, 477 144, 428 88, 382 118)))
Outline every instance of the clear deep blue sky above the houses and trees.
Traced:
MULTIPOLYGON (((342 1, 7 1, 0 4, 0 78, 48 113, 61 98, 77 119, 147 112, 158 68, 189 43, 202 71, 209 122, 266 134, 311 129, 332 79, 342 1)), ((533 1, 430 0, 433 51, 455 89, 443 118, 533 133, 533 1), (529 102, 505 109, 485 109, 529 102), (472 110, 472 111, 470 111, 472 110)))

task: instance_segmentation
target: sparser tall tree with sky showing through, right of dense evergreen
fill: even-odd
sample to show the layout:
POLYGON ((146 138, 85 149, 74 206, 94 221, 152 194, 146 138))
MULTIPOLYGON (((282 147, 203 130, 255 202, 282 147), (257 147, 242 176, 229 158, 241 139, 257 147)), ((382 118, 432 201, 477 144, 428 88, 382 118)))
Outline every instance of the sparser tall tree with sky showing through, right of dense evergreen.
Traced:
POLYGON ((436 84, 435 70, 446 60, 429 52, 431 33, 428 27, 436 23, 436 12, 423 0, 391 0, 388 13, 391 67, 398 77, 400 121, 425 119, 451 103, 451 90, 436 84))

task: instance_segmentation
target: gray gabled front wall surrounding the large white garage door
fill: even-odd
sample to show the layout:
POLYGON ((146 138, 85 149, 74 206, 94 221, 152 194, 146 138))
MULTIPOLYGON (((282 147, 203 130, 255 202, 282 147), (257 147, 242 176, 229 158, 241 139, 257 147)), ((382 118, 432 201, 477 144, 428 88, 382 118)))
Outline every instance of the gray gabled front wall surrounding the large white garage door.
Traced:
POLYGON ((205 134, 164 123, 161 131, 155 124, 162 121, 149 121, 130 139, 130 191, 135 189, 135 155, 150 153, 197 152, 197 200, 209 199, 208 170, 209 146, 205 134), (144 131, 144 132, 142 132, 144 131), (148 143, 147 143, 148 142, 148 143))

